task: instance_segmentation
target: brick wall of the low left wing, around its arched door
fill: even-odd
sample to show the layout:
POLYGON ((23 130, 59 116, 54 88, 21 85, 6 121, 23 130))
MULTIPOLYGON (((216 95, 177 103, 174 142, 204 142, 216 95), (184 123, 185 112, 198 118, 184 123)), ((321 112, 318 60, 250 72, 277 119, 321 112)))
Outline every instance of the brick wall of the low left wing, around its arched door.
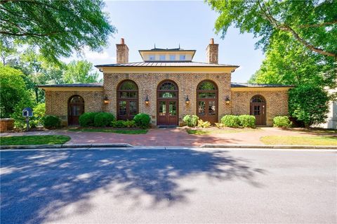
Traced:
POLYGON ((46 114, 60 117, 68 124, 68 100, 73 95, 84 98, 84 112, 103 111, 103 91, 46 91, 46 114))

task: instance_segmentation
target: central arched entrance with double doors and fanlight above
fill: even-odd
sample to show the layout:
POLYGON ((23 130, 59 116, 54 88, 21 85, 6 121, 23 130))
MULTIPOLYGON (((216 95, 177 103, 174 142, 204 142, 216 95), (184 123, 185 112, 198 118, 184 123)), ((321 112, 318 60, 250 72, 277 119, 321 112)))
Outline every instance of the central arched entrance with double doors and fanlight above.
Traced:
POLYGON ((157 125, 178 125, 178 86, 165 80, 157 87, 157 125))

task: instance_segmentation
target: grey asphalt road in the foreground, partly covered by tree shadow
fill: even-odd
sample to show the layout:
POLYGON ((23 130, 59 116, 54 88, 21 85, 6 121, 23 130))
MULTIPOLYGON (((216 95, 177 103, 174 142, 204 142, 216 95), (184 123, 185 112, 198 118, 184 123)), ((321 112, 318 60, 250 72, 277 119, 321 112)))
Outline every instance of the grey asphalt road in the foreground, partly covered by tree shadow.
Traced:
POLYGON ((336 151, 1 152, 1 223, 336 223, 336 151))

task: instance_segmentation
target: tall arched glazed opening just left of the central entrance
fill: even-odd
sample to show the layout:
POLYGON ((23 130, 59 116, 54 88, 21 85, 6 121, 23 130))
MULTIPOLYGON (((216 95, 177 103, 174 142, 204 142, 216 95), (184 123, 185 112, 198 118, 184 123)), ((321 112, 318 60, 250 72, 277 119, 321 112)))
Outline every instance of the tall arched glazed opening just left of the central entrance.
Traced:
POLYGON ((132 120, 138 114, 138 86, 124 80, 117 87, 117 119, 132 120))

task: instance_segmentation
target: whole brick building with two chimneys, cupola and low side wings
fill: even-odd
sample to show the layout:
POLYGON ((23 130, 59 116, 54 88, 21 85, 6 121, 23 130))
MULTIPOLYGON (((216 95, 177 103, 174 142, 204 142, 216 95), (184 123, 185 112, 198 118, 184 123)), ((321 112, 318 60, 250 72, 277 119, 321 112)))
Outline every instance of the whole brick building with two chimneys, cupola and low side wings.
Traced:
POLYGON ((116 46, 116 64, 95 65, 103 84, 39 86, 46 91, 46 114, 77 125, 83 112, 111 112, 117 119, 143 112, 157 126, 178 126, 186 114, 211 123, 225 114, 253 114, 257 125, 271 126, 273 117, 288 114, 291 86, 231 83, 239 66, 218 64, 213 39, 206 62, 193 62, 195 50, 182 48, 140 50, 143 62, 128 62, 124 39, 116 46))

